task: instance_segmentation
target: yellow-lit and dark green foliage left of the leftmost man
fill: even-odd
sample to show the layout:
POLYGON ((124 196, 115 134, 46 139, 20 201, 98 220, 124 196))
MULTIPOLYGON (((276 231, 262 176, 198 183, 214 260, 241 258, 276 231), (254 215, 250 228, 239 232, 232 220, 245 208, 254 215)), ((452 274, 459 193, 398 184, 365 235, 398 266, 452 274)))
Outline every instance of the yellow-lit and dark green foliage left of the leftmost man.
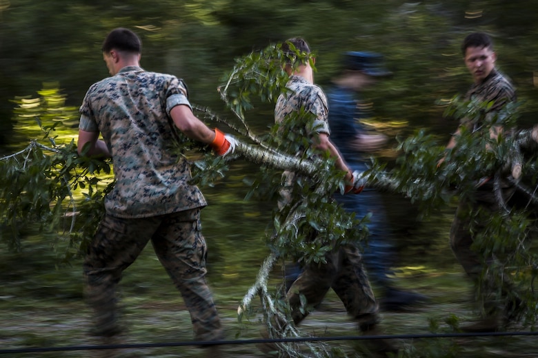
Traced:
POLYGON ((15 101, 19 125, 32 127, 35 120, 33 127, 42 137, 0 160, 1 238, 20 249, 21 231, 28 226, 60 231, 57 240, 70 240, 69 260, 83 249, 104 213, 103 196, 112 186, 110 165, 79 156, 74 140, 57 143, 54 131, 70 127, 77 112, 65 107, 65 96, 57 88, 48 86, 39 94, 15 101))

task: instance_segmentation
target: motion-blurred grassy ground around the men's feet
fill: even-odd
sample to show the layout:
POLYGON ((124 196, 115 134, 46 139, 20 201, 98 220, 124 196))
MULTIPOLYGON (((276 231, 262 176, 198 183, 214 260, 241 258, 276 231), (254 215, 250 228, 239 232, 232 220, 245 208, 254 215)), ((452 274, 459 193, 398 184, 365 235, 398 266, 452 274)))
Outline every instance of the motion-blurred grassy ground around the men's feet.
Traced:
MULTIPOLYGON (((460 273, 424 274, 404 279, 412 289, 428 295, 426 304, 406 312, 382 312, 383 333, 413 335, 396 337, 401 352, 398 357, 538 357, 538 337, 513 335, 529 330, 519 325, 509 328, 510 335, 486 337, 424 337, 416 335, 450 335, 454 324, 473 319, 469 286, 460 273), (433 286, 436 282, 437 286, 433 286), (449 324, 449 322, 451 324, 449 324)), ((250 340, 260 339, 261 315, 237 320, 238 297, 220 297, 215 293, 219 312, 226 328, 225 357, 261 357, 250 340), (236 344, 230 341, 240 340, 236 344), (241 343, 241 344, 239 344, 241 343)), ((192 341, 190 317, 181 299, 159 301, 139 296, 123 297, 123 324, 128 332, 117 341, 97 341, 87 335, 90 312, 82 299, 31 300, 24 297, 0 296, 0 358, 3 357, 203 357, 206 350, 188 345, 192 341), (123 345, 121 349, 97 349, 100 344, 123 345), (182 346, 180 344, 187 344, 182 346), (143 346, 141 346, 143 345, 143 346), (17 352, 17 349, 49 352, 17 352), (12 350, 9 352, 9 350, 12 350)), ((329 293, 321 306, 299 326, 301 335, 336 337, 323 343, 338 348, 348 357, 369 357, 360 348, 359 340, 340 337, 357 335, 356 326, 334 293, 329 293), (359 348, 357 348, 359 347, 359 348)), ((308 356, 308 353, 307 355, 308 356)), ((335 353, 335 357, 337 357, 335 353)), ((214 357, 217 358, 217 357, 214 357)))

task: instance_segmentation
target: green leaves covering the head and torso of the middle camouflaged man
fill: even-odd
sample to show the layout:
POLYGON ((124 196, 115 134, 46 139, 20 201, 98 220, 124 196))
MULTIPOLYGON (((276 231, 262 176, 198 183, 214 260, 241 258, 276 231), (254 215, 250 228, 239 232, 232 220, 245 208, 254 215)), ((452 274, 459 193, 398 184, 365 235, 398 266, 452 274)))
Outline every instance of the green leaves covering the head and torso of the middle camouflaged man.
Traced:
MULTIPOLYGON (((246 116, 255 101, 273 103, 288 90, 285 87, 288 76, 282 70, 286 63, 297 65, 310 61, 313 65, 314 54, 301 53, 293 45, 290 50, 294 53, 282 52, 280 44, 269 45, 237 59, 219 90, 223 101, 239 119, 239 132, 268 150, 312 161, 319 157, 311 144, 310 133, 315 129, 312 113, 302 110, 290 114, 283 123, 272 125, 268 135, 260 136, 253 133, 246 116)), ((271 198, 285 190, 286 201, 291 203, 275 210, 275 233, 268 241, 272 251, 282 259, 323 262, 326 252, 362 237, 355 218, 330 200, 330 193, 343 189, 343 173, 335 169, 328 157, 316 161, 316 165, 321 166, 317 167, 319 175, 297 174, 290 180, 283 178, 273 163, 267 162, 251 182, 249 197, 271 198)))

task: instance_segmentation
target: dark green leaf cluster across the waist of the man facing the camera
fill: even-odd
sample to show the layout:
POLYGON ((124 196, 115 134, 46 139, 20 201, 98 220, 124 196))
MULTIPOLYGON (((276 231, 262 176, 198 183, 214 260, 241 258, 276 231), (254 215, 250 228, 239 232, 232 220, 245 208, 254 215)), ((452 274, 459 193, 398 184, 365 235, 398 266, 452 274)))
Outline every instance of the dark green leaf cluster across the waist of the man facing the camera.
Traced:
MULTIPOLYGON (((491 103, 461 101, 458 96, 452 99, 446 109, 450 118, 468 118, 467 123, 484 122, 485 111, 491 103)), ((429 134, 426 129, 417 129, 415 134, 399 138, 397 150, 403 155, 397 158, 397 170, 392 170, 392 180, 396 180, 397 191, 404 193, 412 201, 418 201, 426 214, 431 210, 448 204, 452 196, 469 198, 477 183, 495 173, 510 174, 510 152, 514 149, 515 136, 490 137, 492 126, 514 127, 517 120, 517 107, 507 105, 496 113, 488 125, 471 131, 460 127, 457 147, 446 150, 439 137, 429 134), (443 158, 442 164, 439 160, 443 158)), ((457 122, 455 122, 457 127, 457 122)), ((383 169, 376 163, 376 171, 383 169)), ((382 179, 382 178, 381 178, 382 179)))

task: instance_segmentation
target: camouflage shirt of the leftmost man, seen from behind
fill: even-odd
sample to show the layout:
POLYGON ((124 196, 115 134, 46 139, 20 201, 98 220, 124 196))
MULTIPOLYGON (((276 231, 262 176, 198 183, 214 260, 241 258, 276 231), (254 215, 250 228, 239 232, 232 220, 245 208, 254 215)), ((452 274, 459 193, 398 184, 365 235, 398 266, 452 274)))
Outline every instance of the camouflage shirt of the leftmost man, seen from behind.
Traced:
POLYGON ((105 198, 110 215, 147 218, 206 206, 201 191, 188 184, 188 162, 170 151, 176 105, 190 107, 183 81, 141 67, 124 67, 88 89, 79 129, 100 131, 112 154, 116 183, 105 198))

